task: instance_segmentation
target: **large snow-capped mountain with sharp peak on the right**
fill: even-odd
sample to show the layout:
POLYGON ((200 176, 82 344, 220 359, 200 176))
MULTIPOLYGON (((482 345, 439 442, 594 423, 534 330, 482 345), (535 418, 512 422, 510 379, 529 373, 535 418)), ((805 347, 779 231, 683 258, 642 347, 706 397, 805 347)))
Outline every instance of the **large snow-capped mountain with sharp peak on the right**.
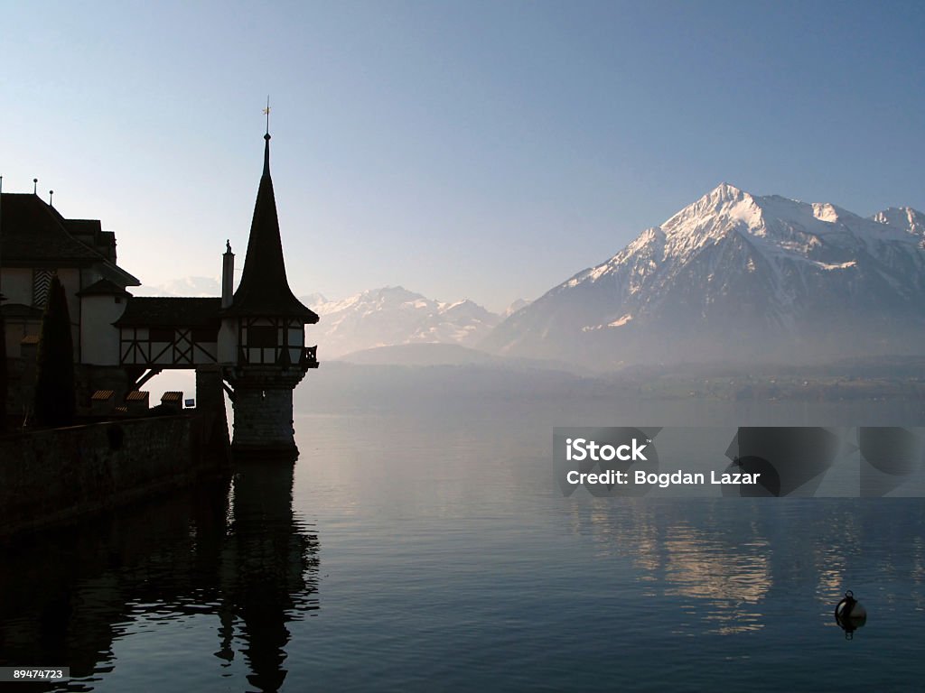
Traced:
POLYGON ((601 366, 923 353, 922 220, 722 184, 514 313, 482 346, 601 366))

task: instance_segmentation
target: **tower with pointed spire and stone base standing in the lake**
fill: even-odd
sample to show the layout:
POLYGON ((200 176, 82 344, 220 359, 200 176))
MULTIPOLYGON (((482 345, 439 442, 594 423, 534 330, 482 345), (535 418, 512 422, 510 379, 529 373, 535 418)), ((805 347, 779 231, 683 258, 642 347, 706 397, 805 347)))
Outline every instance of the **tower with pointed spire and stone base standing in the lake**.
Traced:
POLYGON ((218 360, 233 390, 236 456, 296 456, 292 391, 317 368, 316 347, 305 347, 306 324, 318 316, 293 296, 286 279, 277 203, 270 177, 270 134, 264 136, 264 174, 253 208, 240 285, 229 296, 234 256, 225 254, 218 360), (226 288, 227 287, 227 288, 226 288))

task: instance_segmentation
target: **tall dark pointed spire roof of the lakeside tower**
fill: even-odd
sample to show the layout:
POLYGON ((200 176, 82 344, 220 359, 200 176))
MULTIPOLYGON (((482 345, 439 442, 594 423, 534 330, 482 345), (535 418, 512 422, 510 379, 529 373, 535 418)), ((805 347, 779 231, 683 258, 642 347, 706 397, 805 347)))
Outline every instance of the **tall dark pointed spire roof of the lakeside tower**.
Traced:
POLYGON ((257 201, 253 207, 251 237, 247 244, 247 257, 240 285, 226 315, 279 316, 301 318, 304 322, 318 322, 313 310, 295 298, 286 279, 282 241, 279 239, 277 202, 270 177, 270 140, 266 136, 264 148, 264 175, 257 188, 257 201))

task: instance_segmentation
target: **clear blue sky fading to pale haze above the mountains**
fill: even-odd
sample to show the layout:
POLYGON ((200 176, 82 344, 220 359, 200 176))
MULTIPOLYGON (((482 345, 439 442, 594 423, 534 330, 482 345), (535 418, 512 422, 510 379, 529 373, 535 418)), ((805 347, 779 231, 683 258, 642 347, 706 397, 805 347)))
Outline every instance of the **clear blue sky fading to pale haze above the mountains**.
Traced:
POLYGON ((925 209, 925 3, 0 0, 0 175, 148 285, 247 242, 267 94, 290 285, 499 309, 728 181, 925 209))

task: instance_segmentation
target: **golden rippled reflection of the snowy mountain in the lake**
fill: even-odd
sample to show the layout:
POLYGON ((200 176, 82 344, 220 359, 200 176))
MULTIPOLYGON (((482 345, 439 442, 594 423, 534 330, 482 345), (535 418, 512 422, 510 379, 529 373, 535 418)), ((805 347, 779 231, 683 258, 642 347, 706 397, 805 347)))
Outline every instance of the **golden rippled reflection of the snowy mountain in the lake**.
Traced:
MULTIPOLYGON (((881 535, 884 525, 891 525, 897 538, 915 537, 921 527, 921 505, 916 502, 903 508, 914 512, 890 521, 871 513, 872 505, 857 512, 857 505, 845 500, 732 506, 706 499, 680 505, 628 499, 619 505, 603 499, 589 503, 591 509, 569 506, 573 532, 594 541, 599 559, 633 565, 643 596, 673 600, 675 626, 684 616, 697 625, 698 633, 714 635, 761 629, 768 602, 789 599, 785 590, 794 586, 820 605, 837 601, 845 584, 857 576, 857 568, 848 569, 849 557, 865 553, 864 544, 881 535)), ((925 577, 922 541, 914 543, 918 546, 910 577, 920 585, 925 577)), ((906 552, 878 551, 870 564, 882 580, 903 575, 909 566, 894 564, 899 555, 906 552)))

